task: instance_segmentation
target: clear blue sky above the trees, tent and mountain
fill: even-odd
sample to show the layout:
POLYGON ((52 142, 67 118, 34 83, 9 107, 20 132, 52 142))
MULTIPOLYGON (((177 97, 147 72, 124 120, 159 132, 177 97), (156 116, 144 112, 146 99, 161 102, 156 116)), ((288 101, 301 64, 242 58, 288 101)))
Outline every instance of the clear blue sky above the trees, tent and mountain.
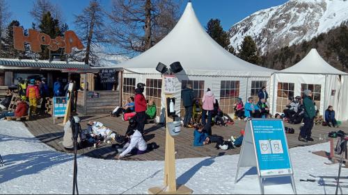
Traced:
MULTIPOLYGON (((24 28, 31 28, 33 18, 29 11, 35 0, 6 0, 12 12, 12 19, 17 19, 24 28)), ((70 30, 74 31, 74 15, 79 15, 83 8, 88 6, 88 0, 51 0, 58 4, 63 12, 65 22, 70 30)), ((180 0, 178 0, 180 1, 180 0)), ((181 0, 180 13, 184 10, 187 0, 181 0)), ((205 26, 209 19, 221 20, 223 29, 228 30, 230 26, 244 19, 253 12, 278 6, 288 0, 192 0, 193 8, 200 23, 205 26)), ((102 6, 108 10, 111 0, 101 0, 102 6)))

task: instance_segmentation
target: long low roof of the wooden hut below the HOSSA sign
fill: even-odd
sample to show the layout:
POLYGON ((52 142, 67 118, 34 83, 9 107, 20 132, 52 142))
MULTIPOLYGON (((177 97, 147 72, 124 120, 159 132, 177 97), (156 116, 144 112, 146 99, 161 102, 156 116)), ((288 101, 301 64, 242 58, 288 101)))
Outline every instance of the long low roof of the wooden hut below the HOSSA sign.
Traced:
POLYGON ((24 68, 49 68, 49 69, 86 69, 89 68, 84 62, 65 62, 49 60, 19 60, 0 58, 0 66, 24 67, 24 68))

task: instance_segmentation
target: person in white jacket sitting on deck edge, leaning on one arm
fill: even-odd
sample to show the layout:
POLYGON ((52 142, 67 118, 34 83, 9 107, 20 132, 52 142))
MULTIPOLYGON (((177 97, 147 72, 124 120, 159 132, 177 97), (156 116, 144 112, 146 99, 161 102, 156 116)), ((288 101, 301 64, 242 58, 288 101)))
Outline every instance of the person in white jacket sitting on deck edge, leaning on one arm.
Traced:
POLYGON ((139 130, 130 130, 127 133, 127 138, 129 139, 129 142, 123 146, 123 151, 118 155, 118 160, 125 157, 128 153, 139 155, 148 152, 148 144, 146 144, 145 139, 139 130))

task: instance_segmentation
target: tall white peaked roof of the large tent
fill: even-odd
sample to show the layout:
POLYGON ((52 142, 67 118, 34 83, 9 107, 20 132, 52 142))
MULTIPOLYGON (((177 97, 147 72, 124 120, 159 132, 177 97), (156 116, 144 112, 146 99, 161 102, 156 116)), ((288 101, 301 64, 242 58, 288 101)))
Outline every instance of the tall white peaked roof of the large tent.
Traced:
POLYGON ((159 62, 167 67, 179 61, 179 74, 205 76, 269 76, 274 70, 253 65, 232 55, 210 37, 198 21, 192 3, 187 7, 171 33, 141 55, 115 67, 139 74, 159 74, 159 62))

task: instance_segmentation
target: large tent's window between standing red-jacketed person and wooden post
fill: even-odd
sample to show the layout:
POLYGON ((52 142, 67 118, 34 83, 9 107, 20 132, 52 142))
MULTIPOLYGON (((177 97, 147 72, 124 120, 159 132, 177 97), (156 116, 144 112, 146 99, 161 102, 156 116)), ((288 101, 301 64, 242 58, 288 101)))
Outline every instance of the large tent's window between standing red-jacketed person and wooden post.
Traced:
POLYGON ((161 114, 161 92, 162 92, 162 80, 161 79, 146 79, 146 100, 152 99, 156 105, 156 115, 161 114))

